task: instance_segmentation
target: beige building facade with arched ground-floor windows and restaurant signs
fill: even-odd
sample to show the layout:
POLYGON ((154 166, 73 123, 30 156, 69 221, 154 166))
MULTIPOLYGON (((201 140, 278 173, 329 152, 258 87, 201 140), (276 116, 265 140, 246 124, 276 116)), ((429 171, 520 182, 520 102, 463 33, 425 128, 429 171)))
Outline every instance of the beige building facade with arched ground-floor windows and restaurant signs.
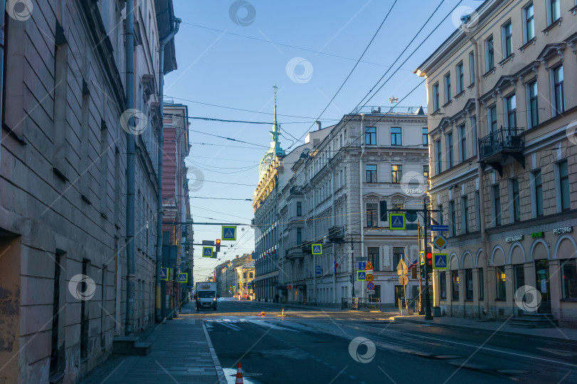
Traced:
POLYGON ((445 314, 577 326, 576 17, 573 0, 484 1, 416 71, 449 225, 445 314))

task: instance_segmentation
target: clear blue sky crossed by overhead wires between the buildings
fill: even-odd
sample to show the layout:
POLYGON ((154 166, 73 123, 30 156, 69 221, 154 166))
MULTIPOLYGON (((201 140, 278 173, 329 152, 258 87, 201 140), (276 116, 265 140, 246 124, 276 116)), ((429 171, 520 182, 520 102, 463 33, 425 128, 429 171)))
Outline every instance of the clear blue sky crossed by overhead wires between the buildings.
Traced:
MULTIPOLYGON (((316 125, 311 127, 314 119, 335 95, 393 2, 250 0, 239 3, 231 0, 175 0, 175 16, 182 18, 176 36, 178 70, 165 77, 165 95, 175 97, 175 102, 188 105, 192 117, 272 122, 272 86, 276 84, 279 87, 279 115, 296 116, 279 116, 282 131, 286 132, 284 136, 290 138, 288 134, 291 134, 299 138, 309 129, 316 128, 316 125), (234 6, 238 11, 234 12, 234 6), (232 8, 234 17, 231 17, 232 8), (303 63, 298 58, 306 61, 303 63), (261 113, 232 110, 230 107, 261 113), (293 122, 298 124, 288 124, 293 122)), ((464 7, 475 9, 482 4, 482 1, 462 1, 440 28, 431 33, 458 2, 442 1, 440 9, 393 69, 430 36, 425 44, 367 105, 390 105, 389 97, 394 95, 402 99, 422 81, 422 78, 412 73, 415 68, 454 31, 459 16, 465 11, 464 7)), ((440 0, 397 1, 363 60, 323 113, 323 127, 338 122, 343 114, 353 110, 440 3, 440 0)), ((399 105, 426 107, 425 85, 399 105)), ((195 175, 199 175, 199 178, 207 181, 191 181, 191 196, 251 198, 259 180, 258 163, 266 151, 262 146, 269 146, 271 140, 271 126, 196 119, 191 120, 191 123, 191 129, 196 131, 261 145, 234 143, 191 132, 191 142, 217 144, 192 144, 187 159, 187 165, 191 168, 189 178, 194 179, 195 175)), ((285 137, 281 137, 281 146, 287 149, 292 143, 285 137)), ((219 222, 250 223, 254 214, 249 201, 192 198, 190 204, 194 221, 197 222, 214 221, 207 219, 214 218, 219 222)), ((220 261, 201 260, 200 247, 195 247, 194 279, 200 281, 207 277, 222 260, 254 250, 253 236, 250 228, 244 232, 239 231, 241 240, 227 242, 227 245, 235 246, 232 252, 229 248, 226 255, 221 252, 220 261)), ((195 227, 195 242, 217 238, 220 238, 219 227, 195 227)))

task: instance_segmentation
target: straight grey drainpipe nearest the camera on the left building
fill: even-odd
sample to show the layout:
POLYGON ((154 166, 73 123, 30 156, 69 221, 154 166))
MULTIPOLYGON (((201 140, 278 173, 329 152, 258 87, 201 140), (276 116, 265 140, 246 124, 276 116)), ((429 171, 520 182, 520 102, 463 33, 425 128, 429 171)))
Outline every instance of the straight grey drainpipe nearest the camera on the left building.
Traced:
MULTIPOLYGON (((134 0, 126 2, 126 109, 134 108, 134 0)), ((134 117, 132 117, 134 119, 134 117)), ((133 122, 129 123, 134 124, 133 122)), ((127 133, 126 143, 126 324, 125 336, 134 334, 134 215, 135 136, 127 133)))

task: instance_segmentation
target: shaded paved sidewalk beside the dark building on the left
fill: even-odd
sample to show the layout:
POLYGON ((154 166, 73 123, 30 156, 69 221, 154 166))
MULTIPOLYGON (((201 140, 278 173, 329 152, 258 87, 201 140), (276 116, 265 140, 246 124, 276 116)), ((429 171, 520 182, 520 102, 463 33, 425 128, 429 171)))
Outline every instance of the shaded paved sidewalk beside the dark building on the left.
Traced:
POLYGON ((204 322, 187 316, 192 311, 194 303, 184 304, 178 319, 153 326, 147 333, 152 342, 147 356, 112 355, 80 383, 226 384, 204 322))

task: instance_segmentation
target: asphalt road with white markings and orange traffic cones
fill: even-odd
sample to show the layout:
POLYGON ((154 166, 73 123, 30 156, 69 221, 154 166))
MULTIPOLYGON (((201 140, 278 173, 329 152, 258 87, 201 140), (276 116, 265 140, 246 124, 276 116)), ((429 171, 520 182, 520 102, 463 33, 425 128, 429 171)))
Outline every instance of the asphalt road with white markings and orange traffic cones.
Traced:
POLYGON ((221 301, 204 319, 229 383, 577 383, 577 345, 221 301), (265 316, 257 316, 265 311, 265 316))

